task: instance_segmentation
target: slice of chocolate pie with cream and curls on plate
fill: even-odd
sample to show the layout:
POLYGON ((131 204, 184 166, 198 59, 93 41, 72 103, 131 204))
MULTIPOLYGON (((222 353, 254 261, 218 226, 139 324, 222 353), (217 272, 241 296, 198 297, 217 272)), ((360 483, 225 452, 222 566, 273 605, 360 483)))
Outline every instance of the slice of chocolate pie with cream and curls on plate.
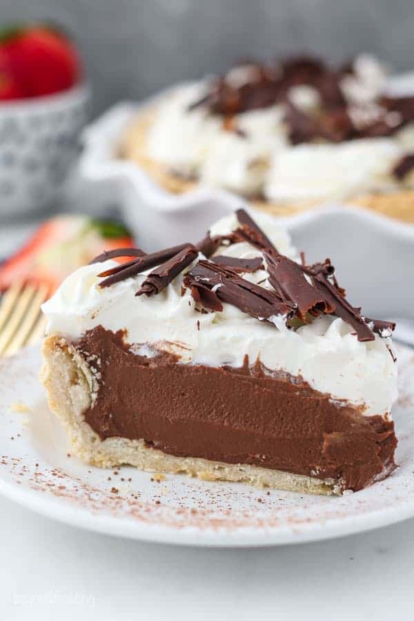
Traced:
POLYGON ((239 210, 198 244, 103 253, 43 311, 43 384, 87 462, 311 493, 395 469, 393 324, 275 224, 239 210))

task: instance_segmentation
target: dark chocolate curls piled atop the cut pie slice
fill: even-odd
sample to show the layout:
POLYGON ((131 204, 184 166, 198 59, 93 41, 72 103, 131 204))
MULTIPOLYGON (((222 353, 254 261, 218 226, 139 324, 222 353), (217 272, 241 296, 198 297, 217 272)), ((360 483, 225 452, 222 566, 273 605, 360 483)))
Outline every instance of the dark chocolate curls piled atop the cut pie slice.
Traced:
POLYGON ((226 302, 252 317, 272 323, 277 316, 284 316, 286 321, 296 315, 306 323, 309 315, 337 315, 353 326, 358 340, 362 342, 375 339, 374 333, 384 337, 394 330, 392 322, 364 318, 361 309, 348 302, 345 290, 335 278, 335 268, 330 259, 308 266, 302 253, 302 264, 298 264, 279 253, 244 209, 237 210, 236 215, 241 225, 237 230, 215 237, 208 234, 197 246, 181 244, 150 255, 144 255, 139 248, 118 248, 99 255, 94 262, 116 256, 137 257, 100 273, 99 276, 106 277, 100 286, 110 286, 157 266, 136 294, 156 295, 195 261, 199 252, 211 256, 225 242, 235 244, 244 241, 262 250, 268 281, 273 289, 248 282, 238 274, 263 268, 262 257, 241 259, 219 255, 211 261, 200 261, 184 277, 184 286, 190 288, 195 301, 204 308, 222 311, 222 302, 226 302))

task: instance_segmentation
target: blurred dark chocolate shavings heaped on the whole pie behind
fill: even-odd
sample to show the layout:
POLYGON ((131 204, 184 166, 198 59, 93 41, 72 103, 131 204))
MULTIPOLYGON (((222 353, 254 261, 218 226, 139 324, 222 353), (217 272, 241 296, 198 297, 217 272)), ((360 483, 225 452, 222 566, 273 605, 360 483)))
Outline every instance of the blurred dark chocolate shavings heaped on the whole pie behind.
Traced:
MULTIPOLYGON (((234 83, 231 75, 210 81, 207 92, 188 110, 199 106, 224 119, 224 126, 239 135, 235 115, 247 110, 283 104, 286 109, 288 132, 293 144, 309 141, 341 142, 364 137, 393 135, 399 128, 414 120, 414 97, 375 97, 368 102, 375 110, 371 120, 355 124, 348 106, 366 116, 367 105, 346 101, 342 90, 345 76, 355 75, 355 63, 339 68, 311 56, 282 59, 268 66, 255 61, 238 64, 246 67, 246 80, 234 83), (321 101, 311 114, 299 110, 290 101, 290 89, 295 86, 314 88, 321 101), (389 113, 395 113, 393 119, 389 113)), ((231 70, 230 70, 231 71, 231 70)))

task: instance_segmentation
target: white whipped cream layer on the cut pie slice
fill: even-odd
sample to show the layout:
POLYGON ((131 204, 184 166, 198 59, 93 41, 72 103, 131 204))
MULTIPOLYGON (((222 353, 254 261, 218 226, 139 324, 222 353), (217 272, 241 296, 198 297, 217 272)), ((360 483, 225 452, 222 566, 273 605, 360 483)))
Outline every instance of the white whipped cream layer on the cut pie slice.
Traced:
MULTIPOLYGON (((266 217, 256 220, 259 226, 270 221, 266 217)), ((273 244, 296 259, 288 235, 275 224, 266 224, 273 244)), ((237 226, 237 217, 231 215, 215 224, 211 234, 226 235, 237 226)), ((217 254, 253 258, 261 253, 243 242, 222 246, 217 254)), ((273 326, 229 304, 223 305, 222 312, 200 313, 190 290, 182 292, 183 275, 151 297, 135 297, 146 274, 99 287, 97 275, 115 265, 109 260, 85 266, 61 284, 42 307, 48 334, 74 341, 97 325, 124 330, 132 351, 141 352, 143 346, 172 351, 182 364, 240 367, 248 355, 250 364, 259 359, 269 371, 300 375, 317 391, 364 406, 367 415, 391 411, 397 397, 397 368, 387 349, 391 347, 388 337, 359 342, 348 324, 328 315, 293 331, 277 317, 273 326)), ((266 276, 266 270, 244 275, 253 282, 262 282, 266 276)))

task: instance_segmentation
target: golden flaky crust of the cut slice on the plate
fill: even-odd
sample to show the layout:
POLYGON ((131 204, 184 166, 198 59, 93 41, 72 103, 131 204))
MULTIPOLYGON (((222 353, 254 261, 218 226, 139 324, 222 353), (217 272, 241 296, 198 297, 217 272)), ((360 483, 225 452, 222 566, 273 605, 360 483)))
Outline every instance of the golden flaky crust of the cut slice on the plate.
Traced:
POLYGON ((92 371, 75 347, 59 336, 47 337, 42 353, 41 381, 50 409, 66 428, 72 451, 85 462, 101 468, 130 464, 149 472, 184 473, 207 481, 243 482, 303 493, 340 493, 332 480, 322 481, 259 466, 175 457, 152 449, 144 440, 110 437, 102 441, 83 417, 99 390, 99 374, 92 371))

